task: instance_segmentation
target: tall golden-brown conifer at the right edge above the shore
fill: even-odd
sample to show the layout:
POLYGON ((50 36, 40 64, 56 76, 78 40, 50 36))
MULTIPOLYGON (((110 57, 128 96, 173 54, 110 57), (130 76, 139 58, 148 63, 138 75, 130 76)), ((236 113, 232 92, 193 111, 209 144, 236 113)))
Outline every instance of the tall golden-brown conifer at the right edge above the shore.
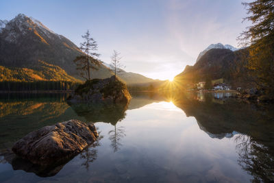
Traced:
POLYGON ((239 37, 242 45, 249 46, 247 69, 256 86, 274 97, 274 1, 242 4, 249 14, 244 20, 252 23, 239 37))

